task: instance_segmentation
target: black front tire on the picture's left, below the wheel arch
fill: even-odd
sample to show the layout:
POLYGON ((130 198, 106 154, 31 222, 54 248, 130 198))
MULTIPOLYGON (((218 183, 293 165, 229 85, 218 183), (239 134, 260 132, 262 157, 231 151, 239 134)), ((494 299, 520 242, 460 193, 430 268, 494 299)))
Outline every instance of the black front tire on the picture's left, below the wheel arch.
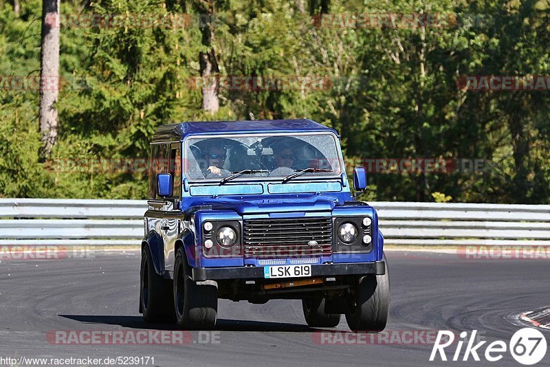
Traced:
POLYGON ((213 329, 218 314, 218 289, 197 285, 190 277, 184 248, 176 252, 173 299, 176 322, 181 329, 213 329))

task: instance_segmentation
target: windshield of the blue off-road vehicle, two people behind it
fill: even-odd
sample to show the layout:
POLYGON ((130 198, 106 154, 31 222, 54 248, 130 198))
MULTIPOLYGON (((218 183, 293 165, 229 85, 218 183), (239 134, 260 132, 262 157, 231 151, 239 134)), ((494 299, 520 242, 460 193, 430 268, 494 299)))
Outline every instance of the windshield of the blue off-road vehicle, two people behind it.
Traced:
POLYGON ((230 176, 230 181, 250 177, 283 181, 303 170, 296 177, 342 173, 336 139, 328 133, 190 137, 184 162, 186 177, 191 181, 230 176))

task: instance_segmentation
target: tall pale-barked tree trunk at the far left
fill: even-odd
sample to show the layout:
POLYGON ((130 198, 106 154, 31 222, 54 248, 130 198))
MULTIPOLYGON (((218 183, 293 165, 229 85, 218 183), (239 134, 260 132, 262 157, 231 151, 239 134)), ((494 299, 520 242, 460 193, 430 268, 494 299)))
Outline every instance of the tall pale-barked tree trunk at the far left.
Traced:
POLYGON ((47 157, 57 141, 59 95, 59 0, 42 3, 42 55, 40 87, 41 156, 47 157))

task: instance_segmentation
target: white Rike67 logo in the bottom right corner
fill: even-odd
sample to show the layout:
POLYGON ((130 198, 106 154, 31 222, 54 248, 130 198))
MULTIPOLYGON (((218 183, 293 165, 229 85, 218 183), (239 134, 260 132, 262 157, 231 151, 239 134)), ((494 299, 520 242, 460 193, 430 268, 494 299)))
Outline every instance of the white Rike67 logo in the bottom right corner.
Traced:
MULTIPOLYGON (((481 355, 489 362, 497 362, 503 358, 504 353, 509 351, 511 356, 514 357, 517 362, 526 366, 531 366, 540 362, 542 358, 544 358, 544 355, 546 355, 546 339, 537 329, 520 329, 512 335, 509 344, 506 344, 502 340, 496 340, 485 346, 484 353, 482 352, 482 347, 485 343, 487 343, 487 341, 483 340, 474 344, 476 342, 476 333, 476 330, 472 331, 472 333, 470 333, 470 337, 468 337, 467 331, 460 333, 459 340, 456 343, 456 350, 452 354, 452 357, 450 356, 452 361, 456 362, 460 359, 462 361, 467 361, 471 356, 474 361, 479 362, 481 360, 481 355), (464 352, 462 352, 464 344, 466 344, 466 347, 464 352)), ((432 354, 430 355, 430 362, 433 362, 438 354, 442 361, 448 360, 448 357, 445 354, 445 348, 448 348, 448 346, 453 344, 454 335, 455 334, 452 331, 446 330, 440 330, 437 333, 435 344, 432 348, 432 354)))

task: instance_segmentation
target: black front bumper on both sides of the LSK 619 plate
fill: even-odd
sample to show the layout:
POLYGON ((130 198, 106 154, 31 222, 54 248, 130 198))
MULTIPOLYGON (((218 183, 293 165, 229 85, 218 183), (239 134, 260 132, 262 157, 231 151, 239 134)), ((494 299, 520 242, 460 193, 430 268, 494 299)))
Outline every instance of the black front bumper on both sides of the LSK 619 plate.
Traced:
MULTIPOLYGON (((311 276, 340 276, 386 274, 386 263, 347 263, 311 265, 311 276)), ((263 278, 263 267, 194 267, 192 278, 195 282, 221 279, 254 279, 263 278)))

